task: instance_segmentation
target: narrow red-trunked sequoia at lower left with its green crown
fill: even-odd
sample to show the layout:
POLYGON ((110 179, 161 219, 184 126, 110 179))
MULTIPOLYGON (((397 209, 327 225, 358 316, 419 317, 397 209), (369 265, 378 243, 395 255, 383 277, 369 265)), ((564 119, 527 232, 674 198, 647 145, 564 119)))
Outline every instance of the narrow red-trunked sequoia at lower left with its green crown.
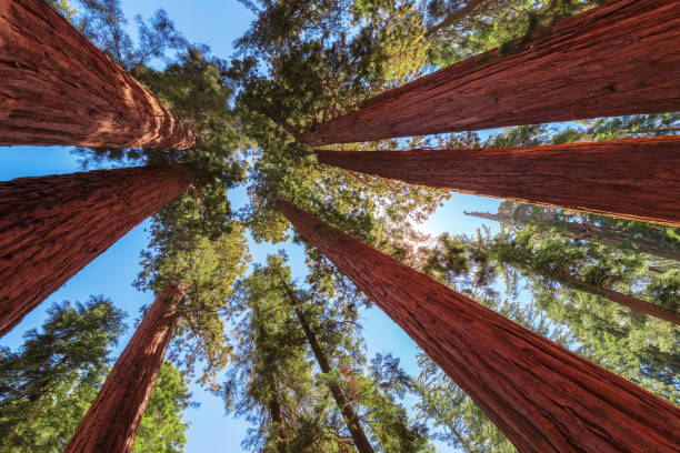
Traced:
POLYGON ((206 384, 227 363, 231 350, 219 313, 248 254, 242 229, 206 231, 198 203, 184 195, 156 215, 138 284, 158 296, 66 451, 130 451, 171 341, 172 359, 188 375, 204 363, 206 384))

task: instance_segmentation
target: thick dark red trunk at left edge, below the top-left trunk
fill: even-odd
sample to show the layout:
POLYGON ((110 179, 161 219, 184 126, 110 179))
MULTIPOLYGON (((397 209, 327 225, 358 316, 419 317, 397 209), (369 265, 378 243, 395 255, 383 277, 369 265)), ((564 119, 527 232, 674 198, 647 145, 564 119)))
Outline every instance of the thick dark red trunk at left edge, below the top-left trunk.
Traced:
POLYGON ((159 165, 1 182, 0 336, 190 181, 159 165))

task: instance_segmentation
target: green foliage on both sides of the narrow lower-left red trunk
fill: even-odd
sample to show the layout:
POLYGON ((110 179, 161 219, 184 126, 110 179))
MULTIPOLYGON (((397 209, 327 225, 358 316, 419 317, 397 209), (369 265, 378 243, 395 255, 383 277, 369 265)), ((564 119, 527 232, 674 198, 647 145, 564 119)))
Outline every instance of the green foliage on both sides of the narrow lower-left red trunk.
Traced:
MULTIPOLYGON (((109 373, 124 313, 99 296, 54 304, 42 331, 0 350, 0 451, 57 453, 67 445, 109 373)), ((136 453, 180 453, 188 389, 171 364, 161 368, 136 439, 136 453)))

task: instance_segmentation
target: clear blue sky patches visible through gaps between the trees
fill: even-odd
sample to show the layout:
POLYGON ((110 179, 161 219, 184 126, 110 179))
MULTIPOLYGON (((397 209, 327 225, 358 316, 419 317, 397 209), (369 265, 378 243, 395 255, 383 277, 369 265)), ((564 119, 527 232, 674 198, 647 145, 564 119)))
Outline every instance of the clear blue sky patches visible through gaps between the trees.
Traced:
MULTIPOLYGON (((149 17, 158 8, 163 8, 174 21, 177 28, 193 42, 207 43, 212 53, 228 59, 232 53, 232 42, 249 27, 252 16, 236 0, 202 0, 188 2, 186 0, 123 0, 123 9, 128 19, 134 14, 149 17)), ((0 152, 0 181, 13 178, 69 173, 80 171, 77 158, 70 148, 51 147, 11 147, 0 152)), ((229 195, 234 209, 246 203, 243 189, 237 189, 229 195)), ((480 219, 463 215, 463 211, 492 211, 499 204, 498 200, 482 199, 472 195, 453 194, 427 222, 421 230, 438 234, 444 231, 451 233, 472 233, 481 226, 480 219)), ((0 345, 17 348, 21 344, 21 335, 29 329, 39 328, 44 318, 46 309, 56 301, 86 301, 90 294, 103 294, 129 314, 128 325, 131 326, 138 318, 139 309, 152 302, 152 295, 141 293, 132 288, 139 268, 139 253, 147 245, 144 232, 147 222, 133 229, 118 241, 107 252, 86 266, 60 290, 48 298, 38 309, 30 313, 23 322, 0 340, 0 345)), ((494 231, 498 224, 490 222, 494 231)), ((293 273, 301 278, 304 274, 304 263, 301 249, 294 244, 254 244, 251 242, 251 254, 254 262, 263 262, 268 253, 284 248, 291 259, 293 273)), ((411 374, 417 374, 414 343, 382 312, 373 308, 362 313, 363 333, 369 356, 377 352, 392 353, 399 356, 403 368, 411 374)), ((122 339, 121 348, 131 335, 131 329, 122 339)), ((200 403, 199 409, 189 409, 186 420, 191 423, 188 431, 188 453, 203 452, 240 452, 240 443, 248 427, 243 420, 226 417, 221 400, 192 385, 193 397, 200 403)), ((438 444, 438 446, 441 446, 438 444)), ((438 451, 451 452, 452 449, 441 446, 438 451)))

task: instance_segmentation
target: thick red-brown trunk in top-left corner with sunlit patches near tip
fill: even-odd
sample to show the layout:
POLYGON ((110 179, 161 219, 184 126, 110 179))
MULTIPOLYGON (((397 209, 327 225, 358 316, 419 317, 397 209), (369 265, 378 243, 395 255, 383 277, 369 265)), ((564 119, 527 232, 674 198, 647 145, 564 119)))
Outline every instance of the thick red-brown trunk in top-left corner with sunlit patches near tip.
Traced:
POLYGON ((196 135, 44 0, 0 2, 0 145, 189 149, 196 135))

